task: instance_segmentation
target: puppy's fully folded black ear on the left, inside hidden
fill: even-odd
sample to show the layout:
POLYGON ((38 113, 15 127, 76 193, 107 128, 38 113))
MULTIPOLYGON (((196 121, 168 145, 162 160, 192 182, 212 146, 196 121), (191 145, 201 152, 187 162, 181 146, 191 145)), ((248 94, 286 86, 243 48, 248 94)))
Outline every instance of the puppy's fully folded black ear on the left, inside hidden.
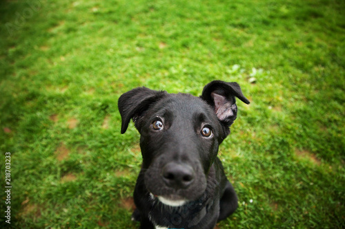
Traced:
POLYGON ((122 94, 117 103, 121 114, 121 133, 125 133, 130 122, 136 122, 141 114, 157 100, 166 96, 166 91, 154 91, 146 87, 137 87, 122 94))

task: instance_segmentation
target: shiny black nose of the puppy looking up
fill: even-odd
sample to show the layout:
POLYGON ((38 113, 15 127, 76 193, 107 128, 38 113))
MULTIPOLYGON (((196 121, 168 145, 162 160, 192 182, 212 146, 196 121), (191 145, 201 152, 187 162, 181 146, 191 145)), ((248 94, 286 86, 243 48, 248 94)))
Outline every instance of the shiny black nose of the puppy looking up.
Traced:
POLYGON ((162 177, 166 185, 172 188, 188 188, 195 175, 191 166, 169 162, 162 169, 162 177))

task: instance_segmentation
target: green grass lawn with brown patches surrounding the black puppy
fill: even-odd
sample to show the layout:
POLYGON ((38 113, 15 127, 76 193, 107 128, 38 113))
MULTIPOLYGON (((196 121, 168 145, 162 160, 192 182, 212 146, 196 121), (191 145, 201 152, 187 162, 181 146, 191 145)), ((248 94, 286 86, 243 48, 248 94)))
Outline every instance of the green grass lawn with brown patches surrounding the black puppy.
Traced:
POLYGON ((236 81, 219 157, 239 208, 217 228, 345 228, 345 2, 0 1, 0 227, 138 228, 139 86, 236 81), (10 152, 10 205, 5 159, 10 152), (11 223, 4 211, 10 206, 11 223))

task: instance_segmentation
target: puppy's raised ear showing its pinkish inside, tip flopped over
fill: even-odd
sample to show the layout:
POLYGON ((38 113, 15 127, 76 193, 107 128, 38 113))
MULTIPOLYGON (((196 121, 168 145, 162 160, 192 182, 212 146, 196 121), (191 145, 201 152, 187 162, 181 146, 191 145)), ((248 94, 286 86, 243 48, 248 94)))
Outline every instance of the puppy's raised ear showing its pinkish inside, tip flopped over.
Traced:
POLYGON ((225 123, 227 127, 233 124, 237 116, 235 97, 246 104, 250 103, 242 94, 241 87, 239 87, 238 83, 226 83, 221 80, 214 80, 208 83, 200 96, 200 98, 215 109, 218 119, 225 123))

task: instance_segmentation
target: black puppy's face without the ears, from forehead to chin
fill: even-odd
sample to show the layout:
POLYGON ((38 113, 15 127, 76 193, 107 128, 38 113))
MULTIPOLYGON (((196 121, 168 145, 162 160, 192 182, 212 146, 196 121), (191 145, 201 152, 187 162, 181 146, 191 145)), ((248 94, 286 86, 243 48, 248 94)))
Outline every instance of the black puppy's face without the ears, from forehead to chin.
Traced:
POLYGON ((202 195, 225 134, 212 107, 187 94, 169 94, 137 127, 150 193, 176 203, 202 195))

